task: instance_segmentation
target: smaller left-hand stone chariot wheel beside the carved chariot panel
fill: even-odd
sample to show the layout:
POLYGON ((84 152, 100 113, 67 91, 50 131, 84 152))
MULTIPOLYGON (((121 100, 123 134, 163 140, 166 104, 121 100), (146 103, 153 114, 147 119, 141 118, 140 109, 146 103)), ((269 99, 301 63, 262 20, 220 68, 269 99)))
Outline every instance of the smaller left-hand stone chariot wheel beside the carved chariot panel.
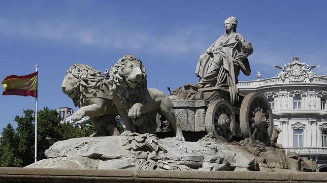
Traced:
POLYGON ((235 131, 235 114, 230 103, 225 100, 209 104, 205 125, 207 133, 212 132, 216 139, 231 142, 235 131))

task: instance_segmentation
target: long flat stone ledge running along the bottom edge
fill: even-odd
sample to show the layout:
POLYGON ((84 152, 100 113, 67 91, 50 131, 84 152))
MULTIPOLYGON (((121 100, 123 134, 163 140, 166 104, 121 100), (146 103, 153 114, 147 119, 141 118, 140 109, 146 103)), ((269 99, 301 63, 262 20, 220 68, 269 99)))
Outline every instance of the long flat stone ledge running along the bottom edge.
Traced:
POLYGON ((0 182, 326 182, 318 172, 0 168, 0 182))

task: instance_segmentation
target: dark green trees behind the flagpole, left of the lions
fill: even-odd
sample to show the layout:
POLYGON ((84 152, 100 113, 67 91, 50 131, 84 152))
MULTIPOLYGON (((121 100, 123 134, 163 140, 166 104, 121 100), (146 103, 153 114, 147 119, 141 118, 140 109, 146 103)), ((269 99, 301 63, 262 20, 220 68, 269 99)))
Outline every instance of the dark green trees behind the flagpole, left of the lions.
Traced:
MULTIPOLYGON (((35 156, 35 112, 24 110, 22 116, 16 116, 17 128, 8 124, 0 138, 0 166, 23 167, 34 163, 35 156)), ((56 140, 67 140, 89 136, 95 132, 93 124, 74 127, 64 123, 59 125, 60 116, 53 109, 45 107, 38 111, 38 160, 44 159, 44 151, 56 140), (46 139, 47 137, 55 138, 46 139)))

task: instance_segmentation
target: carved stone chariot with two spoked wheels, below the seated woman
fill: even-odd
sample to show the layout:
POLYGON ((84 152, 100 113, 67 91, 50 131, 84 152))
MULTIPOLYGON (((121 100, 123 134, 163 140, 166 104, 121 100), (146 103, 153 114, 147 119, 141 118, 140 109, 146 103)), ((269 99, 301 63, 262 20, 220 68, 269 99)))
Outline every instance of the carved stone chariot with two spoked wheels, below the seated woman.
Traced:
MULTIPOLYGON (((176 120, 184 132, 212 132, 223 142, 251 138, 253 143, 270 143, 273 115, 268 100, 260 93, 242 95, 237 92, 234 97, 225 87, 197 88, 187 84, 174 90, 171 101, 176 120)), ((170 130, 168 122, 160 115, 157 123, 157 132, 170 130)))

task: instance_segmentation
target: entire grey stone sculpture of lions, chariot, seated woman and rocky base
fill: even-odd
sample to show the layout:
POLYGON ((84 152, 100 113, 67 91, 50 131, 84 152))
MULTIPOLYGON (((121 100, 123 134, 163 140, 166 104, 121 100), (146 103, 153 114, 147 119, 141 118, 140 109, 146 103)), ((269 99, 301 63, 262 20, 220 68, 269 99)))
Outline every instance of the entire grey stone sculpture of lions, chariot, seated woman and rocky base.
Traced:
POLYGON ((145 67, 132 55, 118 60, 108 82, 87 65, 73 65, 62 89, 80 107, 74 119, 119 112, 126 131, 56 142, 45 152, 48 159, 27 167, 315 171, 315 161, 285 154, 276 144, 280 129, 273 126, 267 99, 258 93, 238 93, 239 70, 250 74, 247 57, 253 50, 236 33, 236 25, 236 17, 229 17, 226 33, 200 57, 199 83, 184 85, 169 97, 147 88, 145 67), (96 82, 95 76, 100 78, 96 82), (164 118, 158 120, 157 115, 164 118), (175 138, 159 139, 154 134, 164 121, 173 128, 175 138), (185 142, 182 130, 207 134, 197 142, 185 142))

